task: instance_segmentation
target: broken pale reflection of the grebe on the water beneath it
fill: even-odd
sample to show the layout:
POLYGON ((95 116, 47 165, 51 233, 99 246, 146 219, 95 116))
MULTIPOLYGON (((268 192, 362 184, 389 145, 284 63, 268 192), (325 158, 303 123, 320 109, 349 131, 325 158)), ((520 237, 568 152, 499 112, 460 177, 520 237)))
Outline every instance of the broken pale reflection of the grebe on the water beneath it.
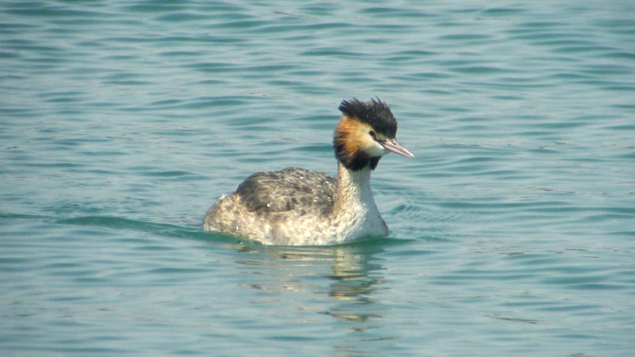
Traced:
POLYGON ((270 293, 309 292, 313 295, 309 299, 352 302, 319 311, 342 321, 364 322, 382 317, 368 313, 366 307, 376 302, 373 294, 383 281, 380 259, 373 257, 384 252, 377 242, 311 247, 241 246, 237 249, 249 258, 237 260, 240 269, 255 276, 244 286, 270 293))

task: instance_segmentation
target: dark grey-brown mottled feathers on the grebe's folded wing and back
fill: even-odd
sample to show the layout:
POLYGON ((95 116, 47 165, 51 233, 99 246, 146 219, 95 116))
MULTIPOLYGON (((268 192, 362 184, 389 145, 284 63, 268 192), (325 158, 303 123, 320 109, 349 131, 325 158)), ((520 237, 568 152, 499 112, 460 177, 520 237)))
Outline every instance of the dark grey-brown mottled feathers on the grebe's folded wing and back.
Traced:
POLYGON ((258 172, 244 180, 236 193, 248 210, 257 213, 298 210, 324 214, 333 209, 337 180, 304 168, 258 172))

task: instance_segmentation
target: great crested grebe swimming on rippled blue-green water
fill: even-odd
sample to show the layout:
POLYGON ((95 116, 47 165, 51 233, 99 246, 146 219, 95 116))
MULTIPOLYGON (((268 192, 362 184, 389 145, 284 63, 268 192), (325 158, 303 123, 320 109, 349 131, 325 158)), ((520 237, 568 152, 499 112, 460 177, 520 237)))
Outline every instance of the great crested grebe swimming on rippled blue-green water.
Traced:
POLYGON ((370 172, 389 152, 415 156, 395 139, 397 121, 379 98, 344 100, 339 109, 344 115, 333 139, 337 179, 295 167, 254 173, 211 206, 203 229, 265 245, 331 245, 387 236, 370 172))

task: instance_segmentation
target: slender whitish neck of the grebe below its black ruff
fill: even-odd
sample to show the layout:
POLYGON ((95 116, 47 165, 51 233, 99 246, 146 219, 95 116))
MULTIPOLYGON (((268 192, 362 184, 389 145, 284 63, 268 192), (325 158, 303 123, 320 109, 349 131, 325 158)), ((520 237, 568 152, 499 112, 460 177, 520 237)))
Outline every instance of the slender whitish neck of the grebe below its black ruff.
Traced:
POLYGON ((370 188, 370 172, 369 165, 361 170, 351 170, 338 161, 337 196, 333 207, 336 212, 359 206, 365 206, 366 210, 377 210, 370 188))

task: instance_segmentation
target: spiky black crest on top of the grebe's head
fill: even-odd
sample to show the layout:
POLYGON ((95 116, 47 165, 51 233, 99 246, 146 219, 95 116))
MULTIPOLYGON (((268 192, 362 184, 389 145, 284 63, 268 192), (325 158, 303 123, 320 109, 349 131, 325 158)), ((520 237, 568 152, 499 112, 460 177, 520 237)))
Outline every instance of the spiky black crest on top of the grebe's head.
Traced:
POLYGON ((362 102, 356 98, 343 100, 339 109, 345 116, 358 118, 386 137, 394 138, 397 135, 397 121, 388 105, 379 98, 371 99, 370 102, 362 102))

